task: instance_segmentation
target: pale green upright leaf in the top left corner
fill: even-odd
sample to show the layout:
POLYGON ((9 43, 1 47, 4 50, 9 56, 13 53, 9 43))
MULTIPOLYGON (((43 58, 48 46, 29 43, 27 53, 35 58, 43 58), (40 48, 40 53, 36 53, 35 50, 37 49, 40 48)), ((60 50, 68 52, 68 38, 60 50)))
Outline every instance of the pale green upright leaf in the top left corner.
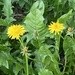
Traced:
POLYGON ((3 0, 3 2, 4 2, 3 14, 6 16, 5 26, 8 26, 12 21, 15 21, 15 19, 12 17, 13 14, 12 4, 11 4, 11 0, 3 0))

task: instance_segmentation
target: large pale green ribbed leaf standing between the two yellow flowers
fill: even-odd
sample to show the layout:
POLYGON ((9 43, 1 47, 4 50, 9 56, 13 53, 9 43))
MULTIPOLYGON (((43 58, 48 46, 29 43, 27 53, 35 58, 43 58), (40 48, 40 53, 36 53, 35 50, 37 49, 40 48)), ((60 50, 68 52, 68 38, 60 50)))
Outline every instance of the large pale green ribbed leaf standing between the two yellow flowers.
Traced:
MULTIPOLYGON (((25 27, 31 38, 37 38, 40 40, 45 39, 47 33, 47 27, 44 24, 44 4, 42 1, 37 1, 30 9, 30 13, 26 16, 24 21, 25 27)), ((28 38, 27 34, 27 38, 28 38)), ((29 41, 30 39, 27 39, 29 41)))

